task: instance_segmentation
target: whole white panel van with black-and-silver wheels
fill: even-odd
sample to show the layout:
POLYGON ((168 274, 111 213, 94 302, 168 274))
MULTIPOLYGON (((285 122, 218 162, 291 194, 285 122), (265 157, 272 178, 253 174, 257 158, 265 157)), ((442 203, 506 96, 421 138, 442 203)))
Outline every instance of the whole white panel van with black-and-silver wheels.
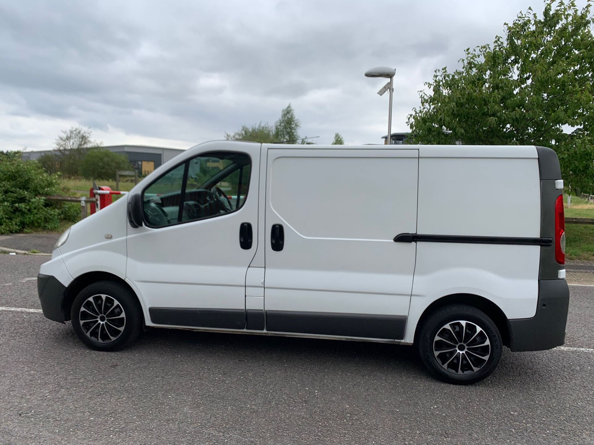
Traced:
POLYGON ((214 141, 67 230, 43 313, 84 344, 145 328, 415 345, 473 383, 563 345, 563 180, 543 147, 214 141))

